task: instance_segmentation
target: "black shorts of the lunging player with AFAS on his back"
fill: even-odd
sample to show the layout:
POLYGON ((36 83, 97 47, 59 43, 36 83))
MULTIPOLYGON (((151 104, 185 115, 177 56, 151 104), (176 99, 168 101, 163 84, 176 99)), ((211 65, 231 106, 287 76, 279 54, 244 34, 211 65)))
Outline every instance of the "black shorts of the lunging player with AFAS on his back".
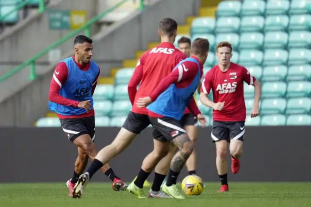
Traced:
POLYGON ((124 121, 122 128, 132 133, 139 134, 150 124, 151 122, 149 120, 148 115, 137 114, 131 111, 127 116, 126 120, 124 121))

